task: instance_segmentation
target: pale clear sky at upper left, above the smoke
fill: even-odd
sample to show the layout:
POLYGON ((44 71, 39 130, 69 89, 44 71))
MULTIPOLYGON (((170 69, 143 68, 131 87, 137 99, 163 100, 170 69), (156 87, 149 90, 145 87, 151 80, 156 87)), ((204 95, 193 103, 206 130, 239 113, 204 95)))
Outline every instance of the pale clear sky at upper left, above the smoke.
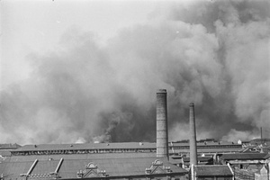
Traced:
POLYGON ((158 1, 2 0, 1 89, 29 75, 27 55, 58 46, 69 29, 92 31, 106 43, 123 27, 145 23, 158 1))

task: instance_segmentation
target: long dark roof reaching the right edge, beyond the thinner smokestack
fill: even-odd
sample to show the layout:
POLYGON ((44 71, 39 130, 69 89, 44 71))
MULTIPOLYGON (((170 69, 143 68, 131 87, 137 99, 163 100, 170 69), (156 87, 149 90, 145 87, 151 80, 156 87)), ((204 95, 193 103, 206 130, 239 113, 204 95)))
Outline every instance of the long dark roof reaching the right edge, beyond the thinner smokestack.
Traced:
POLYGON ((266 159, 266 153, 230 153, 223 154, 220 158, 224 160, 259 160, 266 159))

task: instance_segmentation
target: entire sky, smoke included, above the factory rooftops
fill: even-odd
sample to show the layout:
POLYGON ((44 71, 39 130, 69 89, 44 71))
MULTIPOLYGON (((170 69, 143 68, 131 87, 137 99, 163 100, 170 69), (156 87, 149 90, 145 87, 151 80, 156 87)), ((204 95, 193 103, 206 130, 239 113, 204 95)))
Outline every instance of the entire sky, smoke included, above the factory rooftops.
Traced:
POLYGON ((270 136, 267 0, 1 0, 0 143, 270 136))

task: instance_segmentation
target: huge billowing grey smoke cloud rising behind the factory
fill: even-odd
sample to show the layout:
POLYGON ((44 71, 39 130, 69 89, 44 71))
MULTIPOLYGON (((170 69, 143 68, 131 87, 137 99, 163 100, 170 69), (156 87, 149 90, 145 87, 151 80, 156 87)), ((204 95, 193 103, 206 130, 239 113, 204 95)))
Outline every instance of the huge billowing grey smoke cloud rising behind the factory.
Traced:
POLYGON ((269 2, 171 4, 105 46, 71 29, 29 55, 31 76, 1 92, 0 141, 155 141, 158 88, 170 140, 188 138, 190 102, 198 139, 269 137, 269 2))

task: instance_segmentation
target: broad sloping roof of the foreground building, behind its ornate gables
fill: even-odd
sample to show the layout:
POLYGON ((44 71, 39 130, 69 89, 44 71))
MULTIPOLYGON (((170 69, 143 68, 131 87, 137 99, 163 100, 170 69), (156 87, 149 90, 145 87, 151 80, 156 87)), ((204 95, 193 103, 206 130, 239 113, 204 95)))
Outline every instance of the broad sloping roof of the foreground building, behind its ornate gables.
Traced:
MULTIPOLYGON (((155 160, 163 161, 163 166, 170 166, 172 173, 184 174, 186 171, 169 163, 164 157, 124 157, 124 158, 96 158, 96 159, 65 159, 59 168, 58 175, 61 178, 76 178, 79 170, 85 170, 85 166, 93 162, 99 170, 105 170, 107 175, 145 175, 145 169, 152 166, 155 160)), ((59 159, 40 160, 33 168, 30 178, 49 178, 49 173, 54 172, 59 159)), ((26 174, 33 161, 3 162, 0 164, 0 174, 8 175, 8 178, 18 178, 20 174, 26 174)))

